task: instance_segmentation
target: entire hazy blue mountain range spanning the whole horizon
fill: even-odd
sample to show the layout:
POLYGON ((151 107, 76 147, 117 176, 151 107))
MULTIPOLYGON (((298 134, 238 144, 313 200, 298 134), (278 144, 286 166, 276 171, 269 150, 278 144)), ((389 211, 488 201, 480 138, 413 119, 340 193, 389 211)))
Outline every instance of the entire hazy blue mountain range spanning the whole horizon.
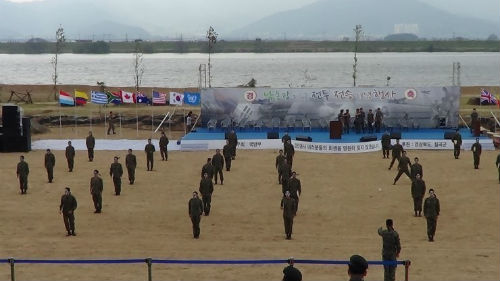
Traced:
MULTIPOLYGON (((155 2, 161 3, 156 7, 153 2, 143 0, 139 4, 147 12, 137 12, 134 9, 139 4, 120 5, 118 0, 46 0, 23 4, 0 0, 0 40, 30 37, 52 40, 60 24, 70 40, 155 40, 177 38, 181 33, 184 38, 203 39, 205 30, 201 26, 206 25, 207 18, 200 17, 196 22, 196 18, 187 16, 189 11, 184 11, 186 20, 177 20, 177 11, 167 10, 170 4, 155 2)), ((237 24, 234 17, 213 17, 219 38, 341 40, 353 37, 356 24, 363 26, 365 38, 374 39, 395 33, 396 24, 400 27, 398 32, 428 39, 485 39, 490 34, 499 35, 498 23, 457 16, 418 0, 320 0, 261 19, 250 11, 248 14, 237 24)))

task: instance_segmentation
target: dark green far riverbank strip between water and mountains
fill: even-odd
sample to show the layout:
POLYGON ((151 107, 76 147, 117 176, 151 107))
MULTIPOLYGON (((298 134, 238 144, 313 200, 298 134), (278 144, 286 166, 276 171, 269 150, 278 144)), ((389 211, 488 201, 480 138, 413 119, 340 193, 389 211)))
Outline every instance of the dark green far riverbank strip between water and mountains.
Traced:
MULTIPOLYGON (((62 53, 108 54, 133 53, 136 45, 144 53, 208 53, 205 41, 159 41, 159 42, 66 42, 62 53)), ((214 53, 309 53, 352 52, 352 41, 267 41, 244 40, 217 42, 214 53)), ((53 53, 53 42, 7 42, 0 43, 0 54, 44 54, 53 53)), ((358 52, 499 52, 498 41, 447 40, 447 41, 361 41, 358 52)))

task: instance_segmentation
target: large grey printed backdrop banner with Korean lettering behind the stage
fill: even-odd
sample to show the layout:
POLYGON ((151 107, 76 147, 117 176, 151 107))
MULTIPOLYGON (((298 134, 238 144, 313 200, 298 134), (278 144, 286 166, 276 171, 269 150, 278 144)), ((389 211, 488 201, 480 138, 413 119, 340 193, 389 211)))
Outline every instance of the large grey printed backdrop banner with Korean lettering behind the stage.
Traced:
POLYGON ((341 109, 380 108, 386 126, 458 125, 460 87, 417 88, 207 88, 201 91, 203 123, 232 119, 270 123, 272 118, 337 120, 341 109))

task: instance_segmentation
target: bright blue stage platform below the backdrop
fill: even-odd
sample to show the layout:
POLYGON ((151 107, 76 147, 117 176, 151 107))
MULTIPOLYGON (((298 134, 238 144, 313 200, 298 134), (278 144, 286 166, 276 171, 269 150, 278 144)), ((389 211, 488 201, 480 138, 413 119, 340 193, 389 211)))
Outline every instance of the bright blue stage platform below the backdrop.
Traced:
MULTIPOLYGON (((276 130, 254 130, 254 129, 244 129, 234 130, 238 136, 239 140, 262 140, 267 139, 268 132, 278 132, 276 130)), ((408 129, 408 130, 391 130, 393 132, 401 132, 401 138, 413 139, 413 140, 443 140, 445 132, 455 132, 454 129, 408 129)), ((223 140, 225 132, 222 129, 208 130, 206 128, 199 128, 196 132, 187 134, 182 140, 223 140)), ((285 134, 285 130, 280 130, 279 139, 285 134)), ((296 129, 289 131, 288 135, 295 140, 297 136, 311 137, 312 142, 320 143, 356 143, 360 141, 363 136, 376 136, 377 140, 380 140, 383 131, 380 133, 373 134, 356 134, 355 132, 350 132, 349 134, 343 134, 341 139, 330 139, 330 133, 327 130, 311 129, 311 131, 302 129, 296 129)), ((470 133, 470 130, 465 128, 460 130, 463 140, 475 140, 476 138, 470 133)), ((480 137, 480 139, 489 139, 488 137, 480 137)))

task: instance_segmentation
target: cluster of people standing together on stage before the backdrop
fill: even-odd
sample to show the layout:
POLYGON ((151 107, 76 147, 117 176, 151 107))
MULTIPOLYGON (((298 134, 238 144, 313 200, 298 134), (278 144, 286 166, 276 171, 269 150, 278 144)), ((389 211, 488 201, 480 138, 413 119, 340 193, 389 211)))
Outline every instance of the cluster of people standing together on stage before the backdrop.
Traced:
MULTIPOLYGON (((349 134, 351 130, 351 113, 349 109, 341 109, 337 115, 337 120, 342 123, 342 128, 345 134, 349 134)), ((376 133, 380 133, 380 128, 382 127, 382 122, 384 119, 384 114, 380 108, 377 108, 375 113, 371 109, 368 110, 368 114, 365 113, 363 108, 356 108, 356 113, 354 114, 354 130, 356 134, 360 133, 373 133, 374 128, 376 133)))

